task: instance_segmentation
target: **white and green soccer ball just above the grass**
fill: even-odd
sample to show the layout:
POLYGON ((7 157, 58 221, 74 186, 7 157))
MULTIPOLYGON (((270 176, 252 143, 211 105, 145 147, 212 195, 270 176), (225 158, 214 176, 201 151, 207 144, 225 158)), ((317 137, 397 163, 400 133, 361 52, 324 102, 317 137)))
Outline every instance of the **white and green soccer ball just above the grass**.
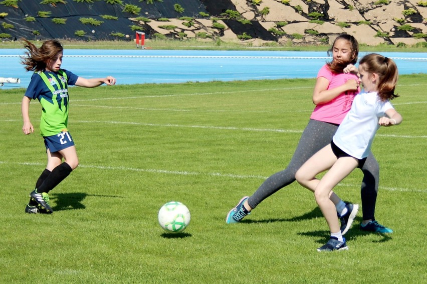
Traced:
POLYGON ((160 226, 167 232, 182 232, 190 222, 190 211, 178 201, 161 206, 158 214, 160 226))

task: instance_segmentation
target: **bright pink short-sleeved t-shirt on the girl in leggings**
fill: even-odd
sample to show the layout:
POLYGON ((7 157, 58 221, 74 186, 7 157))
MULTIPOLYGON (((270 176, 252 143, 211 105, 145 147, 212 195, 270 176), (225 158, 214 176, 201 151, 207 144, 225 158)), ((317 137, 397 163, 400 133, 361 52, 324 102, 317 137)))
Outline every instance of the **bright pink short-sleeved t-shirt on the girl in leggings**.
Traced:
MULTIPOLYGON (((326 64, 320 68, 319 72, 317 73, 317 77, 325 77, 329 81, 328 89, 340 86, 349 79, 358 80, 356 74, 334 74, 329 70, 328 65, 326 64)), ((329 123, 341 124, 342 119, 344 119, 344 116, 350 110, 354 96, 359 91, 360 88, 357 90, 348 90, 339 94, 331 101, 316 105, 313 112, 311 113, 310 118, 329 123)))

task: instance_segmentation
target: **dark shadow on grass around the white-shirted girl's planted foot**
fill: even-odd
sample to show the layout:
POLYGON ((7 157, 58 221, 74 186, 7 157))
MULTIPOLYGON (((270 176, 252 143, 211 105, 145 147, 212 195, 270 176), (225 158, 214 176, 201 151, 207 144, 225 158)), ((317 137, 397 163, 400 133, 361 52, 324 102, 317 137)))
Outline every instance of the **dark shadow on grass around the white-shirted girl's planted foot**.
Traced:
MULTIPOLYGON (((381 237, 381 239, 373 240, 372 242, 385 242, 393 239, 390 234, 386 233, 377 233, 377 232, 369 232, 363 231, 360 229, 360 224, 362 222, 362 217, 356 217, 351 225, 350 229, 345 233, 345 238, 347 240, 354 240, 359 236, 368 235, 368 234, 377 234, 381 237)), ((299 235, 313 236, 313 237, 321 237, 316 242, 324 243, 325 239, 329 239, 330 233, 327 229, 327 225, 325 224, 326 230, 316 230, 316 231, 308 231, 308 232, 300 232, 299 235)))

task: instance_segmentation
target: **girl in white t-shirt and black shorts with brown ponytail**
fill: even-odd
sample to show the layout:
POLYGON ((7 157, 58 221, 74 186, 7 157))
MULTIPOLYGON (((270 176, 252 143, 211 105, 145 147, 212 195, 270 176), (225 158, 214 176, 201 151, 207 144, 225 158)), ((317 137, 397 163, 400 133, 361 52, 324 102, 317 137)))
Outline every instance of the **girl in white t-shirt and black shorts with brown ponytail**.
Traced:
MULTIPOLYGON (((346 69, 357 70, 354 65, 346 69)), ((358 73, 363 91, 355 96, 331 143, 307 160, 295 175, 301 185, 314 191, 316 202, 331 231, 329 241, 318 251, 348 249, 329 195, 333 187, 353 169, 363 166, 378 128, 402 122, 402 116, 390 103, 398 96, 394 94, 398 77, 394 61, 380 54, 368 54, 360 60, 358 73), (317 174, 327 169, 329 171, 320 180, 316 178, 317 174)))

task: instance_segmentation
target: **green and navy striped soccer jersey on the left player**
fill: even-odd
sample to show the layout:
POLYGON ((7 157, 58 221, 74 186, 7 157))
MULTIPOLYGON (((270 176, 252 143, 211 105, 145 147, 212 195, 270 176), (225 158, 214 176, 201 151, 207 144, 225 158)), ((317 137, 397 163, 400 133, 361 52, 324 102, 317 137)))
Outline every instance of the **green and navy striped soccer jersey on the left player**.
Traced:
POLYGON ((39 71, 31 76, 25 96, 42 104, 40 134, 52 136, 68 131, 68 85, 74 85, 79 76, 60 69, 58 72, 39 71))

